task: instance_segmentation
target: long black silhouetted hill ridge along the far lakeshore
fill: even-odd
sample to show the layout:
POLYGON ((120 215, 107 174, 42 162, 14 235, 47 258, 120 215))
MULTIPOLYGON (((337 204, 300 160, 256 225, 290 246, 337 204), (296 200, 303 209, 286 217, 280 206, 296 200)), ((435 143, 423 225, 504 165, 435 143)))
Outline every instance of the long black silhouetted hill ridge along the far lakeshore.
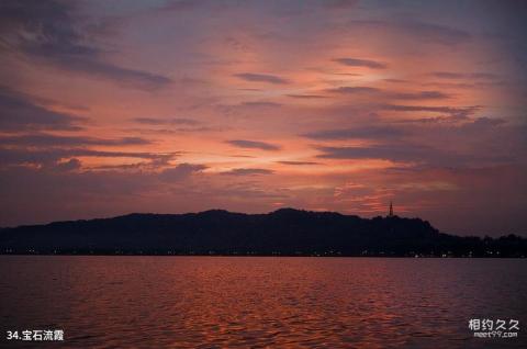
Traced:
POLYGON ((525 257, 527 239, 460 237, 419 218, 281 209, 128 214, 0 230, 1 254, 525 257))

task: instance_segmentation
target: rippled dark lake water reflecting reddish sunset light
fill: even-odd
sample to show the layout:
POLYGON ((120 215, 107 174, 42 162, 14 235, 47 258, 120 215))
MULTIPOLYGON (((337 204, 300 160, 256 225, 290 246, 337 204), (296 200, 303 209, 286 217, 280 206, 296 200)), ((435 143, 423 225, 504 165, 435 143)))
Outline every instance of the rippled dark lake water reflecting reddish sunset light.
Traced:
POLYGON ((527 260, 0 256, 0 300, 7 347, 527 347, 527 260))

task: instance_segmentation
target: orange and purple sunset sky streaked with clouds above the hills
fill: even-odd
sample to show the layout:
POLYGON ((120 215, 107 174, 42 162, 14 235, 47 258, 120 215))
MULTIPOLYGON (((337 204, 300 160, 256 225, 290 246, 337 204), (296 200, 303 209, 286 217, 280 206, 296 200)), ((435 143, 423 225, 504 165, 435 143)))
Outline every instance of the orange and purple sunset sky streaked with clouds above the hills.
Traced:
POLYGON ((0 2, 0 226, 211 209, 527 235, 525 1, 0 2))

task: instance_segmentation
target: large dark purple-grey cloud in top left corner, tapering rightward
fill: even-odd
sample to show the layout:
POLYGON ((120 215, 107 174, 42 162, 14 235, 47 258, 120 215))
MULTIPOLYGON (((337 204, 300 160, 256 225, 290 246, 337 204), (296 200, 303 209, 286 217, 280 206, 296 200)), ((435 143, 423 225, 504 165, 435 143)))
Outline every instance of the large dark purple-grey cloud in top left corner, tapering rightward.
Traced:
POLYGON ((101 77, 139 89, 171 83, 158 74, 121 67, 103 59, 104 50, 88 44, 90 37, 76 25, 74 2, 2 1, 0 21, 7 45, 0 52, 23 54, 76 72, 101 77))

